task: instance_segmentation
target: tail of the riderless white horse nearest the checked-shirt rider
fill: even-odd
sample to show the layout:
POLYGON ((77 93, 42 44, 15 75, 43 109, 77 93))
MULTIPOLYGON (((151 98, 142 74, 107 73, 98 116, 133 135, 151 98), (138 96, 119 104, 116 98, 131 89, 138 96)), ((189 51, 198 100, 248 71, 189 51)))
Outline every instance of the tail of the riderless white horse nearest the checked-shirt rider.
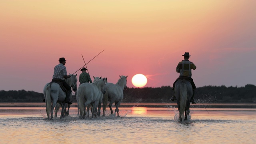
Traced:
POLYGON ((84 114, 84 103, 85 103, 85 90, 86 87, 79 87, 76 91, 77 97, 78 97, 78 108, 80 109, 80 116, 83 116, 84 114))

